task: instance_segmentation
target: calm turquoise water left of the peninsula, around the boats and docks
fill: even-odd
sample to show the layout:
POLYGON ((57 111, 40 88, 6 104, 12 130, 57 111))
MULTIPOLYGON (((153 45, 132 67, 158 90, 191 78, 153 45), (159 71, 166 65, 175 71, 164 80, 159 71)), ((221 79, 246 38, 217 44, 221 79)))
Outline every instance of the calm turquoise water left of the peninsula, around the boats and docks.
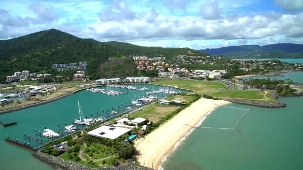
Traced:
MULTIPOLYGON (((136 85, 151 89, 162 88, 156 85, 136 85)), ((128 94, 119 96, 109 96, 105 94, 93 93, 90 91, 80 91, 68 97, 56 100, 54 102, 31 107, 7 114, 0 115, 0 121, 11 123, 17 121, 18 124, 10 127, 0 126, 0 170, 51 170, 52 167, 40 162, 31 156, 32 152, 18 146, 6 143, 4 139, 9 135, 10 139, 18 139, 23 143, 23 134, 26 133, 34 137, 34 130, 43 131, 44 127, 57 131, 58 124, 64 128, 64 123, 71 123, 72 120, 79 117, 77 100, 79 100, 84 116, 90 117, 90 114, 102 112, 107 108, 124 104, 135 98, 145 95, 145 91, 126 90, 128 94)), ((178 90, 179 91, 179 90, 178 90)), ((180 90, 185 92, 184 90, 180 90)), ((162 97, 165 94, 158 94, 162 97)), ((106 117, 106 115, 104 115, 106 117)), ((38 137, 40 140, 40 137, 38 137)), ((47 142, 42 137, 43 142, 47 142)), ((29 141, 26 141, 28 143, 29 141)), ((30 142, 31 146, 37 146, 35 142, 30 142)))

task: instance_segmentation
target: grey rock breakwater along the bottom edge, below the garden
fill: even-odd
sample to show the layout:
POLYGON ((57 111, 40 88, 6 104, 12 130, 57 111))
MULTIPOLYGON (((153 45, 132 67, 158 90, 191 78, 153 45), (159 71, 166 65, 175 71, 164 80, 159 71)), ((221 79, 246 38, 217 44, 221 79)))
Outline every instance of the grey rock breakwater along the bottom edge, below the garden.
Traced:
POLYGON ((56 168, 60 168, 64 170, 153 170, 151 168, 138 166, 132 163, 126 166, 90 168, 82 164, 78 164, 72 161, 67 161, 60 157, 54 157, 52 155, 48 155, 42 152, 35 152, 34 157, 56 168))

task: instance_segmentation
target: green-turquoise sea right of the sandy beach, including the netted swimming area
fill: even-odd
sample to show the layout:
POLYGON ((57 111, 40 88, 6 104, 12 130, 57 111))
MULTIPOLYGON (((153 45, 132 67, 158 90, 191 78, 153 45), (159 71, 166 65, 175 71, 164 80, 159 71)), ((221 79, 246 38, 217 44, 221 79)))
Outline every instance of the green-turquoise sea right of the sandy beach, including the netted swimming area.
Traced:
MULTIPOLYGON (((165 170, 302 170, 303 97, 285 108, 250 109, 237 130, 196 129, 164 162, 165 170), (239 131, 238 131, 239 130, 239 131)), ((242 111, 243 113, 244 111, 242 111)), ((241 113, 220 107, 201 126, 232 127, 241 113)))

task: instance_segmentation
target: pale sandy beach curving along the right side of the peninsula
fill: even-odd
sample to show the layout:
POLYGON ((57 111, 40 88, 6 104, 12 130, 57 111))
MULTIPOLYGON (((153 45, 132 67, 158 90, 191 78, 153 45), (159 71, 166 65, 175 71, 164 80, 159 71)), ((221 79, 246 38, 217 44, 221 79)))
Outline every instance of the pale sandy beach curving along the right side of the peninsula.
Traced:
POLYGON ((211 109, 229 103, 223 100, 201 98, 191 104, 167 123, 147 135, 145 139, 135 142, 135 147, 140 152, 138 161, 143 166, 158 170, 162 158, 192 129, 190 126, 196 126, 199 120, 211 109))

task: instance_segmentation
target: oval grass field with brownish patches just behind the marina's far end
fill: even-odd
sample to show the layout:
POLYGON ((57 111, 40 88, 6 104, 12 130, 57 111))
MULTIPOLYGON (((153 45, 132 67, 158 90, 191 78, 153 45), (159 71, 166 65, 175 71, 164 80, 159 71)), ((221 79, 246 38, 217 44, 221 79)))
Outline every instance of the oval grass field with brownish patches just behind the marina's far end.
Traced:
POLYGON ((220 88, 225 88, 226 85, 214 81, 199 81, 199 80, 161 80, 153 82, 155 85, 172 85, 178 88, 193 90, 193 91, 216 91, 220 88))

